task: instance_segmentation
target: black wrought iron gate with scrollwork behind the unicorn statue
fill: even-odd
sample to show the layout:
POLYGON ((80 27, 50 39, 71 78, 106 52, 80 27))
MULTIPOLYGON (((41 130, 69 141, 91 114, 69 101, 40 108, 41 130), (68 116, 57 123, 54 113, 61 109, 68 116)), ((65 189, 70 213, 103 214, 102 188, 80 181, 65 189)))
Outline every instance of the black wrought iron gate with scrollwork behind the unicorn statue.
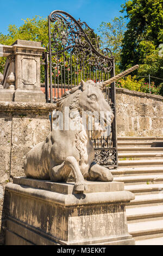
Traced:
MULTIPOLYGON (((98 36, 85 22, 75 20, 65 11, 55 10, 48 16, 48 28, 49 44, 45 56, 47 102, 49 96, 50 102, 57 101, 66 90, 78 86, 82 79, 97 83, 115 75, 111 51, 108 48, 101 50, 98 36)), ((115 83, 105 89, 104 96, 115 115, 111 133, 100 139, 91 138, 91 141, 95 147, 95 161, 105 167, 116 168, 115 83)))

